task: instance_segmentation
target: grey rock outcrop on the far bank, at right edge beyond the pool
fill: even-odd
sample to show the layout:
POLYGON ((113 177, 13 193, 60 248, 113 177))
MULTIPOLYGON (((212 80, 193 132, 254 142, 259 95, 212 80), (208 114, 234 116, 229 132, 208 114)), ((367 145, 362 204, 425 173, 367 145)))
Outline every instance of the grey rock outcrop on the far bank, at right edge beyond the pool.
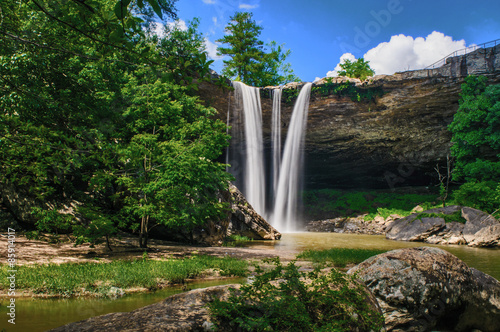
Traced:
POLYGON ((500 221, 485 212, 454 205, 397 219, 387 226, 386 238, 431 244, 496 247, 500 245, 500 221), (456 219, 461 216, 463 222, 445 220, 445 216, 451 215, 456 219))

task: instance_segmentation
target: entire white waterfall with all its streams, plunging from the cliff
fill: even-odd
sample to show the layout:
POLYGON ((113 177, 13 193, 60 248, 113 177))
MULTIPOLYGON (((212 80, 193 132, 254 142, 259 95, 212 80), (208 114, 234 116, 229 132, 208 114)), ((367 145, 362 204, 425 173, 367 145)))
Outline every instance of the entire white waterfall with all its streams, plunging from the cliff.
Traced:
POLYGON ((262 109, 258 88, 233 82, 235 100, 228 112, 231 125, 231 144, 226 161, 235 184, 260 215, 269 216, 280 232, 299 230, 298 195, 301 189, 303 147, 309 97, 312 83, 306 83, 295 102, 288 127, 285 146, 281 149, 281 89, 273 91, 271 119, 272 174, 264 169, 262 109), (265 179, 270 177, 272 190, 266 191, 265 179), (272 197, 266 200, 266 192, 272 197), (266 201, 272 206, 266 211, 266 201))

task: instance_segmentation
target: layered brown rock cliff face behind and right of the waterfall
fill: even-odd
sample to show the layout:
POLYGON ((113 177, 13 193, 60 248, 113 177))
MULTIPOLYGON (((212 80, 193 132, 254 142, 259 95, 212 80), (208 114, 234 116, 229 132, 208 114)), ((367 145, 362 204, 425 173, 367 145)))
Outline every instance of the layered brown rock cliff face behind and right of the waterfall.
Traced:
MULTIPOLYGON (((305 142, 307 188, 393 188, 429 185, 444 165, 461 84, 471 74, 500 83, 500 46, 447 59, 437 69, 379 75, 361 82, 333 78, 315 82, 305 142)), ((282 134, 302 84, 284 87, 282 134)), ((264 140, 270 146, 270 87, 262 89, 264 140)), ((200 90, 225 121, 231 92, 209 84, 200 90)), ((231 162, 231 161, 229 161, 231 162)))

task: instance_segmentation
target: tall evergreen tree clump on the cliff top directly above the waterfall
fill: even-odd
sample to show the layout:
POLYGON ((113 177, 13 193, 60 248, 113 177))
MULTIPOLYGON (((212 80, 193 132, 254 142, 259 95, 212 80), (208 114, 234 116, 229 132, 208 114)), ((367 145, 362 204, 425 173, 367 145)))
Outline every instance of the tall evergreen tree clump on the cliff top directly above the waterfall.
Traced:
POLYGON ((228 44, 218 47, 218 55, 227 55, 223 60, 222 74, 253 86, 280 85, 290 81, 300 81, 293 74, 289 63, 285 63, 290 50, 271 42, 267 52, 264 42, 259 40, 262 27, 252 20, 252 13, 239 12, 231 17, 226 27, 227 35, 217 42, 228 44))

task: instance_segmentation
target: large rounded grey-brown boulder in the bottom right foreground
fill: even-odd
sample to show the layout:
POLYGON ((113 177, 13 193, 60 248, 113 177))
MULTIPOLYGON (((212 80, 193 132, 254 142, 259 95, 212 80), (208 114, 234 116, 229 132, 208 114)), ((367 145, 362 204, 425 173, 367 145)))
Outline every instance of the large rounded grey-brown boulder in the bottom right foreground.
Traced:
POLYGON ((393 250, 348 273, 375 295, 389 331, 500 331, 500 283, 444 250, 393 250))

